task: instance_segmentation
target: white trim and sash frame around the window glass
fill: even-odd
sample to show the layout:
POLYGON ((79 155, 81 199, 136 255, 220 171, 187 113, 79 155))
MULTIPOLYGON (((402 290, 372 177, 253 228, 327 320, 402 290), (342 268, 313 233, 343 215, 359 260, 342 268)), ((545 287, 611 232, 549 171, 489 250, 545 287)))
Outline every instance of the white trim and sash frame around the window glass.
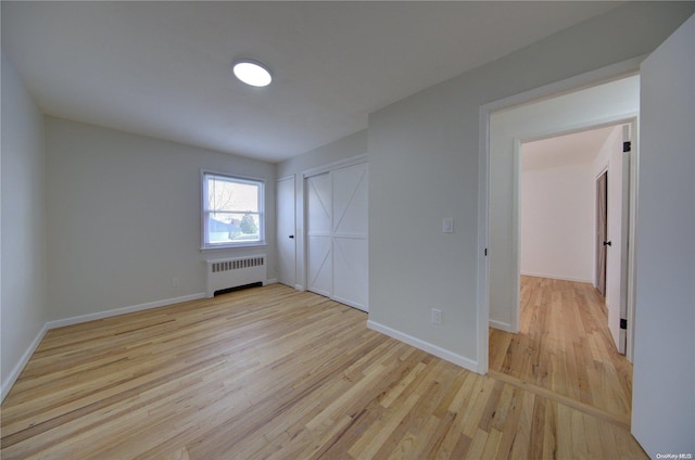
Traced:
POLYGON ((200 250, 201 251, 220 251, 220 250, 235 250, 240 247, 262 247, 266 246, 265 239, 265 179, 250 176, 239 176, 230 173, 224 173, 218 170, 211 169, 201 169, 200 170, 200 250), (250 242, 239 242, 239 243, 220 243, 220 244, 210 244, 205 243, 206 234, 207 234, 207 219, 206 219, 206 182, 205 176, 219 176, 224 178, 231 179, 238 182, 247 182, 252 184, 261 184, 261 190, 258 191, 258 237, 260 241, 250 241, 250 242))

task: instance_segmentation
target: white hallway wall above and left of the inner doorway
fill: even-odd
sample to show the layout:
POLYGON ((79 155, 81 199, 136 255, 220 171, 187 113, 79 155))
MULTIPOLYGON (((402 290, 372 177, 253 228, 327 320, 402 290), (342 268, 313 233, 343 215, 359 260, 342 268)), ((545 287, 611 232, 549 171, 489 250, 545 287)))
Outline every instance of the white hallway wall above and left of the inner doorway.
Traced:
MULTIPOLYGON (((572 131, 636 115, 637 76, 493 113, 490 117, 490 320, 516 331, 518 254, 515 235, 517 141, 572 131)), ((592 222, 594 217, 591 217, 592 222)), ((593 253, 593 248, 589 250, 593 253)))

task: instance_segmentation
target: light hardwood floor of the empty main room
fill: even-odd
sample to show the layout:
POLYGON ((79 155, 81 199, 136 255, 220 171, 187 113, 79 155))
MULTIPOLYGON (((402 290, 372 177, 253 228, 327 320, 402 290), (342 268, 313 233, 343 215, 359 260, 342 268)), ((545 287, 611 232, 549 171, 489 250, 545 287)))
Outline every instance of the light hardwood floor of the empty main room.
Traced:
POLYGON ((275 284, 49 331, 2 404, 1 457, 645 457, 615 420, 366 319, 275 284))

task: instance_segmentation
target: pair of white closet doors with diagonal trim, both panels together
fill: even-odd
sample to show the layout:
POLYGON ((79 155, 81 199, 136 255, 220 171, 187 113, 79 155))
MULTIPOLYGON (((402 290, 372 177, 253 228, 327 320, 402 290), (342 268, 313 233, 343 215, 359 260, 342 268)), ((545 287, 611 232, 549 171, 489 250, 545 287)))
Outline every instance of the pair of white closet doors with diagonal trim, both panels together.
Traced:
POLYGON ((306 179, 307 289, 368 310, 368 176, 359 164, 306 179))

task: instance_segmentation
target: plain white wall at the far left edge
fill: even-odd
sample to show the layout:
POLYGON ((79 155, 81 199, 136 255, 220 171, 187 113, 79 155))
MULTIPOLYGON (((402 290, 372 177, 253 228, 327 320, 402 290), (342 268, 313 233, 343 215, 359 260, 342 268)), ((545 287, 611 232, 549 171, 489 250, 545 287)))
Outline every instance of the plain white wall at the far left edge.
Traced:
POLYGON ((48 318, 43 115, 2 55, 2 398, 48 318))

